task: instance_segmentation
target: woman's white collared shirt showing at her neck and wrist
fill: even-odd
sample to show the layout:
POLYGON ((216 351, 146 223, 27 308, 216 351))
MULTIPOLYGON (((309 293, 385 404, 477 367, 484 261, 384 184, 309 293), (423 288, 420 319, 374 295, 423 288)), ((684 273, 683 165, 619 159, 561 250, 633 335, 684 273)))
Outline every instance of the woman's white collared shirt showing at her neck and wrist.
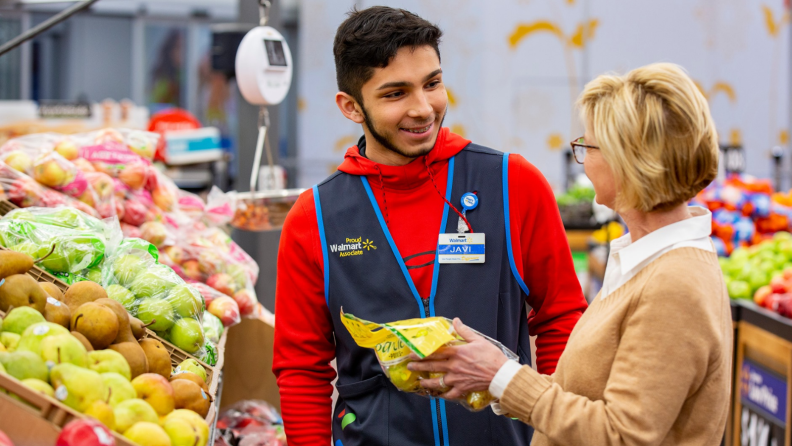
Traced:
MULTIPOLYGON (((626 234, 611 242, 608 267, 600 292, 605 299, 635 277, 642 269, 668 251, 678 248, 699 248, 714 252, 715 247, 710 240, 712 233, 712 213, 698 206, 691 206, 691 218, 672 223, 656 231, 650 232, 633 243, 632 236, 626 234)), ((513 360, 506 361, 498 370, 489 386, 495 398, 503 396, 506 386, 520 371, 522 366, 513 360)))

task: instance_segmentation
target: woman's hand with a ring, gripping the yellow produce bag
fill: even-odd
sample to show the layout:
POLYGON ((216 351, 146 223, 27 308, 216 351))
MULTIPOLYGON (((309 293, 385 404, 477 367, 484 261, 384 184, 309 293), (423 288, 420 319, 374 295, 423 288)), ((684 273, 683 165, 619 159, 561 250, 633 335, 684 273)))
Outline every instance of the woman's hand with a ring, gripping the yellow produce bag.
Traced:
MULTIPOLYGON (((443 347, 423 360, 413 354, 414 361, 407 365, 410 370, 445 373, 443 384, 452 389, 442 396, 450 400, 463 398, 470 392, 488 390, 495 374, 508 360, 498 347, 473 332, 459 318, 454 319, 454 329, 467 344, 443 347)), ((435 391, 445 390, 439 378, 421 380, 421 386, 435 391)))

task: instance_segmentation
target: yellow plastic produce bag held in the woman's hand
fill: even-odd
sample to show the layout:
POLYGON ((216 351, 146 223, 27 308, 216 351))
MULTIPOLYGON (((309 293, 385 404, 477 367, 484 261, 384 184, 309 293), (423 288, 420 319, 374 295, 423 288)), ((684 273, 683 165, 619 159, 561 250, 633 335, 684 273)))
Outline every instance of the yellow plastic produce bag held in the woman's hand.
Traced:
MULTIPOLYGON (((445 317, 408 319, 377 324, 359 319, 351 314, 345 314, 342 308, 341 322, 358 346, 374 349, 382 370, 397 389, 423 396, 440 396, 421 387, 420 381, 439 378, 443 374, 408 370, 407 364, 412 362, 410 353, 425 358, 440 347, 465 343, 454 330, 453 321, 445 317)), ((519 360, 517 355, 500 342, 481 333, 478 334, 498 346, 509 359, 519 360)), ((445 389, 443 393, 448 390, 450 388, 445 389)), ((472 392, 463 400, 454 400, 473 412, 478 412, 495 401, 496 399, 489 391, 472 392)))

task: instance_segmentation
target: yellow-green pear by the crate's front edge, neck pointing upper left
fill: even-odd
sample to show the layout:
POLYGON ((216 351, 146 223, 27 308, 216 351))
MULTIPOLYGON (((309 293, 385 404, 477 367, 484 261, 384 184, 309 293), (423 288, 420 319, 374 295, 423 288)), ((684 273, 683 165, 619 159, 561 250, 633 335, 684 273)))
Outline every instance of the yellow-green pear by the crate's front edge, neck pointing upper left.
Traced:
POLYGON ((55 388, 55 398, 80 412, 85 412, 94 401, 105 395, 101 375, 74 364, 63 363, 53 367, 50 382, 55 388))

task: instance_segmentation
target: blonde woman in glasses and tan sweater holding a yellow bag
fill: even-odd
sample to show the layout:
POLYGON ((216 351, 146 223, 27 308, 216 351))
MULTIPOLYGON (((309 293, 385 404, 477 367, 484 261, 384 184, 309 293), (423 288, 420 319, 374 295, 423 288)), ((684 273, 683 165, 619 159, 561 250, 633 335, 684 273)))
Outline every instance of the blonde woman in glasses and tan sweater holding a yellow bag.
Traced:
POLYGON ((732 328, 709 235, 687 202, 717 173, 707 102, 678 66, 654 64, 590 82, 572 142, 597 202, 629 234, 612 243, 601 293, 572 332, 555 374, 520 366, 458 319, 469 344, 414 370, 458 398, 489 389, 534 426, 533 445, 718 445, 729 410, 732 328))

